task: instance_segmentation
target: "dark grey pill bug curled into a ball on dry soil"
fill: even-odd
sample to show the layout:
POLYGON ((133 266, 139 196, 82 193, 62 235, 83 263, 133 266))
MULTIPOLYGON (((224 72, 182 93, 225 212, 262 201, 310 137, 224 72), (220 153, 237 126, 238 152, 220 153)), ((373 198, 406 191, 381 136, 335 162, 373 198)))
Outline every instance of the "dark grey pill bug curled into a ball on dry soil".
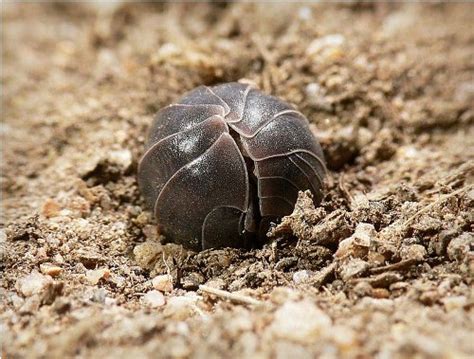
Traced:
POLYGON ((138 182, 168 240, 194 250, 253 247, 292 212, 299 190, 322 197, 323 153, 308 120, 240 83, 200 86, 156 115, 138 182))

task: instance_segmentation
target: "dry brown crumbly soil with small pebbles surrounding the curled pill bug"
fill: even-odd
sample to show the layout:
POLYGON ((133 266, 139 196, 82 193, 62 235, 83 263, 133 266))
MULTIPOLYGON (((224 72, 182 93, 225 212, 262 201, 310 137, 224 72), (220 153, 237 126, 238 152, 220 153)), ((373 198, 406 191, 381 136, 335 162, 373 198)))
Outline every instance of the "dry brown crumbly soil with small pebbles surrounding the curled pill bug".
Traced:
POLYGON ((3 358, 472 358, 474 5, 2 7, 3 358), (307 115, 323 203, 161 244, 152 116, 237 80, 307 115))

